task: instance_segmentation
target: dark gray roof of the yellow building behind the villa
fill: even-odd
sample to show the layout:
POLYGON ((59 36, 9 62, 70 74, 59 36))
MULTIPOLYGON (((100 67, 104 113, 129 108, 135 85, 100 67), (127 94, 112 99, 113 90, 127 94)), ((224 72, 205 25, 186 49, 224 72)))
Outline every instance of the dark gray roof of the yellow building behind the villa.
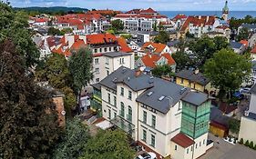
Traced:
POLYGON ((210 79, 208 79, 201 73, 194 74, 193 70, 187 70, 187 69, 181 70, 179 73, 176 74, 176 76, 183 79, 187 79, 191 82, 196 82, 201 85, 206 85, 210 83, 210 79))

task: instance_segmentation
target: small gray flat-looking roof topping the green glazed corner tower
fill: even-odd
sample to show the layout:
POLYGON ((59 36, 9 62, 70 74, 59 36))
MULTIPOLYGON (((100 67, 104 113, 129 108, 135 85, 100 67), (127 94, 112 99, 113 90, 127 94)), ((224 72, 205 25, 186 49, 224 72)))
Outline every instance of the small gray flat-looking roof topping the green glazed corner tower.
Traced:
POLYGON ((200 104, 207 102, 208 99, 208 94, 190 91, 182 98, 182 101, 193 104, 195 106, 200 106, 200 104))

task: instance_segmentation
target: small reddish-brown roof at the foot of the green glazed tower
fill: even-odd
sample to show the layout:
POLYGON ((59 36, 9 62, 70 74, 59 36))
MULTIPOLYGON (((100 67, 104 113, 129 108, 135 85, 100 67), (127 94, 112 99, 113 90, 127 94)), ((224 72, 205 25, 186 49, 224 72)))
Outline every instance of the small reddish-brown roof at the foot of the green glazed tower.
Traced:
POLYGON ((183 148, 187 148, 192 144, 195 144, 195 142, 190 139, 186 134, 176 134, 172 139, 170 139, 172 142, 179 144, 183 148))

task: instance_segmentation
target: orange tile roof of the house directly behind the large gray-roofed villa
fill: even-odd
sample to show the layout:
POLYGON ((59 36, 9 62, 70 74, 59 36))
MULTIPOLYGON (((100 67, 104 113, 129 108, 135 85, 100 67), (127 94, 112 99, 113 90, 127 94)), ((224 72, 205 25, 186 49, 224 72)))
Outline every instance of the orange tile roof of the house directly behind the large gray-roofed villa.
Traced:
POLYGON ((161 54, 161 55, 144 55, 141 57, 143 64, 150 68, 155 68, 157 65, 156 63, 159 61, 160 58, 165 57, 168 60, 168 65, 175 65, 174 59, 168 53, 161 54))

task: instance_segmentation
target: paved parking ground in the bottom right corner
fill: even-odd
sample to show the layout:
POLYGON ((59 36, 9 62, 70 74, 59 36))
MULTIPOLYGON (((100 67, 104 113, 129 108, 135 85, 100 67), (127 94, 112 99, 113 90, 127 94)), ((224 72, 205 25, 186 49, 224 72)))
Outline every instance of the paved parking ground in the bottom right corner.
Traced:
POLYGON ((229 144, 220 137, 210 134, 214 146, 200 159, 255 159, 256 151, 241 144, 229 144))

